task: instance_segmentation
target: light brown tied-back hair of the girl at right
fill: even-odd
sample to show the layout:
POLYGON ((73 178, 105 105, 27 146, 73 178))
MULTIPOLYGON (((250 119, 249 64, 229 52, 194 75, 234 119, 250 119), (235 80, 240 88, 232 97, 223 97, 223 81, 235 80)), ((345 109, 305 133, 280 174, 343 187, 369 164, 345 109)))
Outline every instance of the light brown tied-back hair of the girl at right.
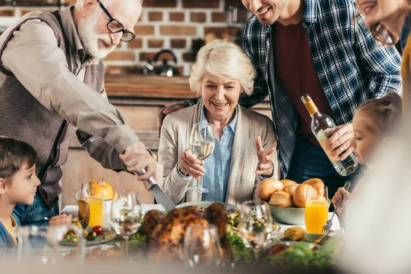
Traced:
POLYGON ((389 135, 391 129, 402 120, 402 100, 398 93, 390 92, 380 99, 366 101, 358 108, 372 122, 370 132, 389 135))

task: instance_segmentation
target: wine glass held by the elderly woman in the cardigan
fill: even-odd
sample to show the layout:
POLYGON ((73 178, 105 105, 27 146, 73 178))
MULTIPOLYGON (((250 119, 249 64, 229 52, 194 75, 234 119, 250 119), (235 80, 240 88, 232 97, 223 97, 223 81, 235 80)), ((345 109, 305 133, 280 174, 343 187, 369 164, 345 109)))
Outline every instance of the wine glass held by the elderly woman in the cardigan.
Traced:
MULTIPOLYGON (((210 157, 214 150, 214 125, 196 123, 191 130, 190 149, 191 153, 199 160, 203 161, 210 157)), ((208 192, 208 189, 202 188, 200 183, 203 177, 199 177, 195 186, 188 188, 188 191, 195 191, 199 193, 208 192)))

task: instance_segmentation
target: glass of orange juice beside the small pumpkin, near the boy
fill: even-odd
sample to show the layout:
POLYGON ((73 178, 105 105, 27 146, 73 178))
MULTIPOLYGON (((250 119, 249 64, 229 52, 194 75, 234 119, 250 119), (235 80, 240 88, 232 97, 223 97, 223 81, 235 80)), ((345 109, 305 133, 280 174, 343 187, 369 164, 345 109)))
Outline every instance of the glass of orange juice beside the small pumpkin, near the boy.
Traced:
POLYGON ((101 225, 103 223, 103 191, 101 191, 101 186, 93 184, 93 182, 82 183, 80 201, 85 201, 90 210, 88 226, 101 225))

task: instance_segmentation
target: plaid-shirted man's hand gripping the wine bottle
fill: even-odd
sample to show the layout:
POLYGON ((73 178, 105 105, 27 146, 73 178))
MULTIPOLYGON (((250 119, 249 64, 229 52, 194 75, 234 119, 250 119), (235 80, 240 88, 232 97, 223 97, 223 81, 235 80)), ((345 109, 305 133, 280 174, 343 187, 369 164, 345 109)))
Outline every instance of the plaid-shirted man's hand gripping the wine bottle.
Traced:
POLYGON ((353 152, 353 148, 349 146, 352 138, 354 138, 353 123, 346 123, 336 127, 334 134, 328 138, 327 145, 327 149, 331 151, 332 157, 339 157, 340 160, 347 159, 353 152))

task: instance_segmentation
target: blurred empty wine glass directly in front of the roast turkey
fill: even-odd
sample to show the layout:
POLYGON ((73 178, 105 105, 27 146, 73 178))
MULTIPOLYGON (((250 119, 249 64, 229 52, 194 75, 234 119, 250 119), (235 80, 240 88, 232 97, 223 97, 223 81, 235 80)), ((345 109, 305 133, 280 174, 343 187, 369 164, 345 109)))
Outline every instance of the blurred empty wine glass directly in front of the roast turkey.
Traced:
POLYGON ((184 236, 184 261, 188 268, 219 266, 219 231, 215 225, 189 225, 184 236))

